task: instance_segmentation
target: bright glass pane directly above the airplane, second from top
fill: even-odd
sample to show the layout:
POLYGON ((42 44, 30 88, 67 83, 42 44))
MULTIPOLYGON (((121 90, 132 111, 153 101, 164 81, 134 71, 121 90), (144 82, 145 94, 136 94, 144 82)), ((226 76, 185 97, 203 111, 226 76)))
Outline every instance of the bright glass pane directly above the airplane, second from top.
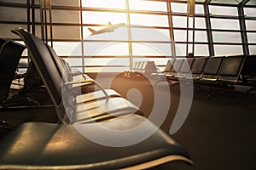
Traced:
POLYGON ((106 24, 108 22, 112 24, 126 23, 125 13, 109 13, 109 12, 91 12, 83 11, 83 23, 84 24, 106 24))

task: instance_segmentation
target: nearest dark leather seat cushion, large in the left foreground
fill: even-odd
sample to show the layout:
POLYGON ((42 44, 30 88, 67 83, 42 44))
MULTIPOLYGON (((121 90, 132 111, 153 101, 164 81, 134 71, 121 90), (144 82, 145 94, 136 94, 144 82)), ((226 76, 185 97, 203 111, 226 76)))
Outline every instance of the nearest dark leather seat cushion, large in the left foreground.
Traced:
MULTIPOLYGON (((126 116, 101 125, 114 130, 137 127, 145 122, 143 116, 126 116)), ((151 122, 146 122, 147 129, 155 129, 151 122)), ((186 150, 170 136, 157 130, 148 139, 138 144, 124 147, 111 147, 96 144, 85 138, 77 129, 101 135, 97 123, 73 125, 43 122, 28 122, 16 127, 0 141, 0 169, 119 169, 153 161, 163 156, 183 156, 189 158, 186 150)), ((146 129, 137 132, 143 135, 146 129)), ((131 136, 119 136, 131 139, 131 136)), ((119 144, 119 140, 115 140, 119 144)))

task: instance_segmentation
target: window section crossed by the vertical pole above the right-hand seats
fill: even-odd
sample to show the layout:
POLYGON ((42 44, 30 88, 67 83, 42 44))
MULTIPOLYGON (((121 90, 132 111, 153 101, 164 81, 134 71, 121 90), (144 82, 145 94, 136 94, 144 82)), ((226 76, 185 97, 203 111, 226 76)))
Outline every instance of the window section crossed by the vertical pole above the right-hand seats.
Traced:
POLYGON ((195 18, 187 17, 187 3, 171 3, 171 6, 177 57, 187 56, 187 53, 194 53, 195 56, 208 56, 203 5, 195 4, 195 18), (193 31, 194 25, 195 31, 193 31))

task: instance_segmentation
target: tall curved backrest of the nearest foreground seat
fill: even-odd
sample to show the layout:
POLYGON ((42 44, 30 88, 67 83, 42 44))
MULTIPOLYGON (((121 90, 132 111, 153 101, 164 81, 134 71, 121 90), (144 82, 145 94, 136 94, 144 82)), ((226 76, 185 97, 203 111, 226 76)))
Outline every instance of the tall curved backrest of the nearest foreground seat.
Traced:
POLYGON ((28 31, 21 28, 12 30, 15 34, 21 37, 26 43, 26 48, 32 57, 32 61, 36 65, 43 82, 48 89, 49 95, 55 104, 57 116, 62 121, 65 116, 65 109, 63 108, 61 90, 63 86, 61 75, 55 65, 55 61, 52 59, 47 45, 35 37, 28 31), (63 115, 64 114, 64 115, 63 115))

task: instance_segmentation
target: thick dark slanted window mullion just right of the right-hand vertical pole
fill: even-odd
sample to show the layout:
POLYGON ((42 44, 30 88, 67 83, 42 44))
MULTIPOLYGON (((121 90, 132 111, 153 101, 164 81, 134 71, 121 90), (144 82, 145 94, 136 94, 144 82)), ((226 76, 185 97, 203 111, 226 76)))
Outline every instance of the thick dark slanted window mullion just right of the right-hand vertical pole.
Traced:
POLYGON ((213 40, 212 40, 212 26, 210 20, 210 13, 209 13, 209 3, 211 0, 206 0, 204 3, 204 12, 205 12, 205 19, 206 19, 206 26, 207 26, 207 39, 208 39, 208 48, 210 56, 214 56, 214 48, 213 48, 213 40))

